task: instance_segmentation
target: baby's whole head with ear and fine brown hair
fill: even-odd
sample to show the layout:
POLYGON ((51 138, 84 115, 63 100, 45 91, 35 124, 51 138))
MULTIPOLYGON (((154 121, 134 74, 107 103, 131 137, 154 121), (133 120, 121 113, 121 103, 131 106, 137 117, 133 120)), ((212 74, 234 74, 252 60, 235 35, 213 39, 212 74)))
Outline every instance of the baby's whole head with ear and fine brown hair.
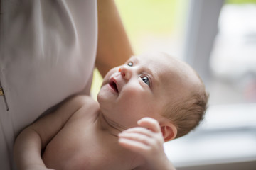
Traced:
POLYGON ((159 121, 164 139, 193 130, 206 111, 208 97, 198 74, 164 53, 131 57, 114 67, 97 96, 102 113, 125 128, 151 117, 159 121))

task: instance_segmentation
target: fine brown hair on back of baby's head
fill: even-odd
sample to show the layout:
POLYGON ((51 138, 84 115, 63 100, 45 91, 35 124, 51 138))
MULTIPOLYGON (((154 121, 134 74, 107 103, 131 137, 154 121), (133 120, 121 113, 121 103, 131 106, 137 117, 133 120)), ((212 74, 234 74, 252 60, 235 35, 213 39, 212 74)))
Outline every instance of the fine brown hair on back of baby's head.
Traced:
POLYGON ((176 138, 188 134, 204 118, 208 103, 208 93, 203 81, 201 83, 202 87, 198 91, 191 91, 188 98, 181 98, 181 100, 169 104, 162 113, 165 118, 168 118, 171 123, 176 125, 176 138))

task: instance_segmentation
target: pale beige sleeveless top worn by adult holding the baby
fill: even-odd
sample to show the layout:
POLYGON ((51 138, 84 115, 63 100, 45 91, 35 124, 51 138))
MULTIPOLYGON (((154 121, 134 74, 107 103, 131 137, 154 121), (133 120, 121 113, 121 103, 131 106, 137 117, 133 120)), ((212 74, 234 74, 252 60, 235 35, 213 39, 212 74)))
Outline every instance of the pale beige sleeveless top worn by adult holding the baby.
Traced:
POLYGON ((89 94, 97 46, 96 3, 1 0, 1 169, 15 169, 12 149, 21 129, 85 86, 89 94))

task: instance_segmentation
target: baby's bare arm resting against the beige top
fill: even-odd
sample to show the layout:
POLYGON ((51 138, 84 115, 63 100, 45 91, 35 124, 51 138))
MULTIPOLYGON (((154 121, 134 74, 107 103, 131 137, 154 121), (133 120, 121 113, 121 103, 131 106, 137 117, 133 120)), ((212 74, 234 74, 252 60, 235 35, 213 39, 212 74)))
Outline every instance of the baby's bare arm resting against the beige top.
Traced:
POLYGON ((82 107, 85 97, 76 96, 63 103, 53 113, 25 128, 14 144, 14 160, 18 169, 47 169, 41 159, 41 149, 63 128, 68 119, 82 107))

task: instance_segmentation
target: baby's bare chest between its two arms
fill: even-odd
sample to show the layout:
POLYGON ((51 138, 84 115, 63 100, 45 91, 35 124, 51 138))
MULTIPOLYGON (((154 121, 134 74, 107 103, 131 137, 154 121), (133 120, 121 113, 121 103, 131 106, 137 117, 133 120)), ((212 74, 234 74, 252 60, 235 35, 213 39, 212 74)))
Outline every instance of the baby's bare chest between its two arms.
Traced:
POLYGON ((134 154, 90 120, 73 120, 48 144, 43 161, 53 169, 132 169, 134 154))

